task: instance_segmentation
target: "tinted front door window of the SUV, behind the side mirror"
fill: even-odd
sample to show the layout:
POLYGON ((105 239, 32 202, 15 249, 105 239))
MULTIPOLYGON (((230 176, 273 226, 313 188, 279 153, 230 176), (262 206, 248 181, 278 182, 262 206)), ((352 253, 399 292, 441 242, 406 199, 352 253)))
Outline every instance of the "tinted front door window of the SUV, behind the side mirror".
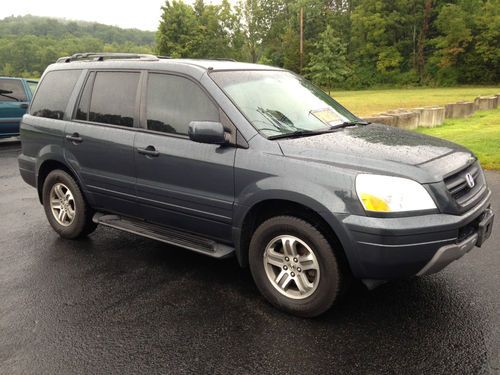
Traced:
POLYGON ((149 74, 148 129, 188 134, 191 121, 219 121, 219 112, 194 82, 166 74, 149 74))

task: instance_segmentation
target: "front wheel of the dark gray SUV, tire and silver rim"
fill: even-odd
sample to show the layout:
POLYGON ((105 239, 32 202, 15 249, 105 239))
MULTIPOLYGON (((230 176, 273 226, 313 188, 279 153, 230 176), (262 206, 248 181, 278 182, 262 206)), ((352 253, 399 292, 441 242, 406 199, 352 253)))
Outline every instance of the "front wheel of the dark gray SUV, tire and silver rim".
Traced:
POLYGON ((277 216, 254 232, 250 270, 263 296, 301 317, 328 310, 340 294, 342 273, 326 237, 308 222, 277 216))

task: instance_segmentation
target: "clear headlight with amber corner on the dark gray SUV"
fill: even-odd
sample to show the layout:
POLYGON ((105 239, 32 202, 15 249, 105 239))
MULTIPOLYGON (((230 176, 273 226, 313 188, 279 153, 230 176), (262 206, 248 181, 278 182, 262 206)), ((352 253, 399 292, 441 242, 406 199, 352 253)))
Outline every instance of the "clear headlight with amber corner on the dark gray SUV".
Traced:
POLYGON ((366 211, 405 212, 436 208, 427 190, 407 178, 359 174, 356 193, 366 211))

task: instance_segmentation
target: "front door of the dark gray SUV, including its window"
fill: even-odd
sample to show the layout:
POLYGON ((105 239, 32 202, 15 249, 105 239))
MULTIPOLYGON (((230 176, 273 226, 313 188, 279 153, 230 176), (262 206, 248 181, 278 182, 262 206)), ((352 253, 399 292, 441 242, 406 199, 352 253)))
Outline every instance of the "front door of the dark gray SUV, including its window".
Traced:
POLYGON ((217 105, 196 82, 164 73, 149 73, 143 100, 134 143, 142 217, 229 241, 236 149, 187 135, 190 121, 220 121, 217 105))

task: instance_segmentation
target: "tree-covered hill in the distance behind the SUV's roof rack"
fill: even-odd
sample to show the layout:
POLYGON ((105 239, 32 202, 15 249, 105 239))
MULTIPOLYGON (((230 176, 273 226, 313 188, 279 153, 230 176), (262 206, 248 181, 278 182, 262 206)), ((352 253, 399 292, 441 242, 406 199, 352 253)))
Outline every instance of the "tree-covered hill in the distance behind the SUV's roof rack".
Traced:
POLYGON ((38 77, 58 57, 85 51, 150 53, 155 33, 22 16, 0 20, 0 75, 38 77))

